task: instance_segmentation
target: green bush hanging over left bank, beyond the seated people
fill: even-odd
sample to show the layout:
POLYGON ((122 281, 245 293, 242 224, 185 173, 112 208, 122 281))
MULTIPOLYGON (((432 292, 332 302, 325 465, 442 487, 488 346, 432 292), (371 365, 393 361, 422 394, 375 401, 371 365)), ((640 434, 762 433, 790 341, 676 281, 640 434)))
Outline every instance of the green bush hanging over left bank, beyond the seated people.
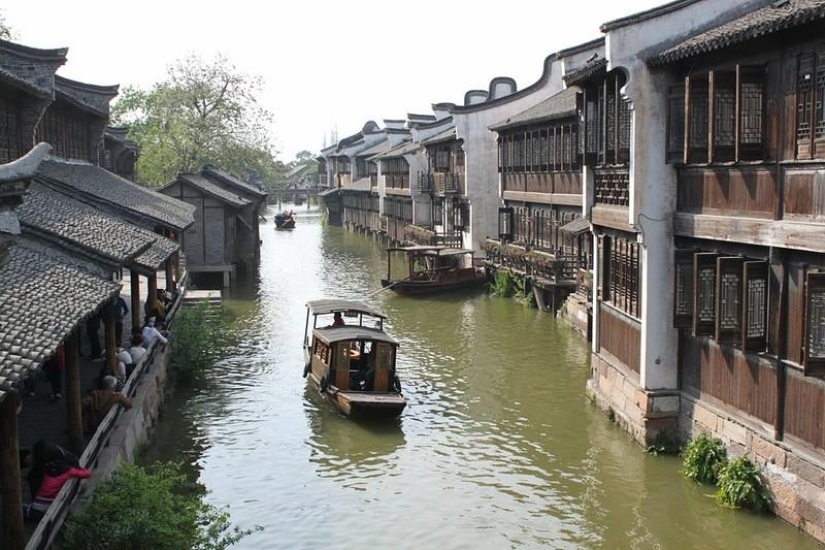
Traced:
POLYGON ((172 333, 172 365, 183 378, 211 366, 237 339, 229 312, 208 302, 181 308, 172 333))

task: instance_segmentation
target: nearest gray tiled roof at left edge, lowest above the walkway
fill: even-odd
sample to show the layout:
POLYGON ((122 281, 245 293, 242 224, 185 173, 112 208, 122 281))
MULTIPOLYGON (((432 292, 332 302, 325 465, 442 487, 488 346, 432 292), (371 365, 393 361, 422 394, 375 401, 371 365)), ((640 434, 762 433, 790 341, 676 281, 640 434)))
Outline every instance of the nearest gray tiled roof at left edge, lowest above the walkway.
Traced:
MULTIPOLYGON (((13 243, 0 243, 0 388, 39 368, 120 284, 13 243)), ((0 400, 4 397, 0 389, 0 400)))

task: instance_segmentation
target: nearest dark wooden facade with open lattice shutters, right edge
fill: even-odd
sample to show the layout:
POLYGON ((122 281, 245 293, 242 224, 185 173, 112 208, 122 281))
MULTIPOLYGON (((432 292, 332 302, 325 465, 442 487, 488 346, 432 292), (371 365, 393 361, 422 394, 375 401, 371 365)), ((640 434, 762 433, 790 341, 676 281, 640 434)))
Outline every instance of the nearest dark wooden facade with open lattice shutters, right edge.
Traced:
POLYGON ((825 449, 821 23, 668 67, 685 391, 825 449))

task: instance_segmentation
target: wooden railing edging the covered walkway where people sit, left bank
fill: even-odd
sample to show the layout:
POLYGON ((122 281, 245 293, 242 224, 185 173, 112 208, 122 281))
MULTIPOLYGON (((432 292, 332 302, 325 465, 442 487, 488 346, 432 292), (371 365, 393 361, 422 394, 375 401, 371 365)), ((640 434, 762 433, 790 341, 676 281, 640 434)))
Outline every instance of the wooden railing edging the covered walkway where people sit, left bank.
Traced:
MULTIPOLYGON (((181 306, 181 299, 184 294, 184 290, 186 288, 186 279, 187 274, 184 274, 179 287, 181 291, 175 297, 175 301, 172 303, 171 307, 167 310, 166 313, 166 326, 167 328, 171 327, 177 312, 180 310, 181 306)), ((162 351, 165 350, 166 344, 161 344, 160 341, 156 340, 149 346, 149 349, 146 350, 146 353, 137 362, 135 365, 135 369, 132 371, 132 374, 129 376, 129 379, 126 381, 126 385, 123 387, 122 393, 129 398, 135 396, 135 392, 137 391, 137 387, 140 384, 141 380, 143 379, 146 372, 155 362, 155 358, 157 355, 162 351)), ((115 425, 120 418, 120 415, 123 413, 123 408, 120 406, 112 407, 106 416, 103 418, 103 421, 98 425, 97 430, 95 431, 92 438, 86 444, 86 448, 83 451, 83 454, 80 456, 80 465, 84 468, 89 468, 94 470, 98 465, 98 459, 100 457, 100 452, 106 448, 109 443, 109 436, 112 433, 115 425)), ((72 478, 63 485, 63 488, 58 493, 57 497, 52 502, 49 509, 46 511, 43 518, 37 524, 37 528, 32 533, 32 536, 29 537, 28 542, 26 543, 26 550, 46 550, 47 548, 51 548, 52 544, 54 543, 55 537, 60 529, 63 527, 63 522, 66 520, 66 516, 69 513, 70 508, 74 504, 74 500, 77 497, 77 494, 80 490, 80 480, 77 478, 72 478)))

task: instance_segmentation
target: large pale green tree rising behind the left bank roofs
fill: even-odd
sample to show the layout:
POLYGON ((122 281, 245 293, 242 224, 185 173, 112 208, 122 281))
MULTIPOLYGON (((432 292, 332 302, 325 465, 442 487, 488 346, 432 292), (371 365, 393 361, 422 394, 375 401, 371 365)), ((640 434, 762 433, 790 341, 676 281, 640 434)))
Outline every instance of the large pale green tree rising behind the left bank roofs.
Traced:
POLYGON ((150 91, 126 88, 112 121, 128 126, 140 147, 138 178, 163 185, 209 164, 271 185, 277 161, 272 116, 256 100, 261 87, 260 77, 239 72, 222 56, 204 61, 193 54, 150 91))

